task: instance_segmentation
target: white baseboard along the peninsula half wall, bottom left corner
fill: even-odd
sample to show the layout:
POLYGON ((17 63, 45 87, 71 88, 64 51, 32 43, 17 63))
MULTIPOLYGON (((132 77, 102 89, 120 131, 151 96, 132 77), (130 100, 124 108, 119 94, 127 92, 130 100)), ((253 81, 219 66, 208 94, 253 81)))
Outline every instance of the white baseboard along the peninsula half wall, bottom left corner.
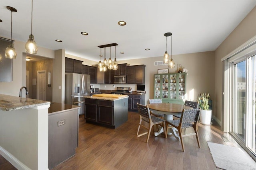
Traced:
POLYGON ((0 154, 18 170, 31 170, 22 162, 20 162, 20 160, 18 160, 15 156, 10 154, 7 150, 3 149, 2 147, 0 147, 0 154))

